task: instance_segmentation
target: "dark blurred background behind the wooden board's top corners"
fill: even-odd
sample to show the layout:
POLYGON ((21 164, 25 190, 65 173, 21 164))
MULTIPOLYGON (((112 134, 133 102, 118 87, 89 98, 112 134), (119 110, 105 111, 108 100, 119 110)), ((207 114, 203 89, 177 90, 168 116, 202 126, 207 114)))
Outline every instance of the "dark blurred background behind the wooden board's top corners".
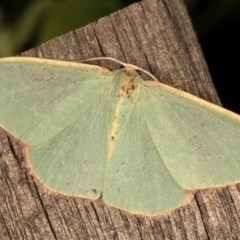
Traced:
MULTIPOLYGON (((0 57, 16 55, 134 0, 1 0, 0 57)), ((240 0, 185 0, 224 107, 240 114, 240 0)))

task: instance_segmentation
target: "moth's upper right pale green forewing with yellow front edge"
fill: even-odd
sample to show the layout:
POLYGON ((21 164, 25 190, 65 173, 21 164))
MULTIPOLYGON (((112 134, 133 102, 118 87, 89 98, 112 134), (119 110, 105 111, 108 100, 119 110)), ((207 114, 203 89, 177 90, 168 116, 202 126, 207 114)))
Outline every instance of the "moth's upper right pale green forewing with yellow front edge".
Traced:
POLYGON ((145 82, 141 105, 154 145, 183 189, 240 180, 240 117, 193 95, 145 82))

